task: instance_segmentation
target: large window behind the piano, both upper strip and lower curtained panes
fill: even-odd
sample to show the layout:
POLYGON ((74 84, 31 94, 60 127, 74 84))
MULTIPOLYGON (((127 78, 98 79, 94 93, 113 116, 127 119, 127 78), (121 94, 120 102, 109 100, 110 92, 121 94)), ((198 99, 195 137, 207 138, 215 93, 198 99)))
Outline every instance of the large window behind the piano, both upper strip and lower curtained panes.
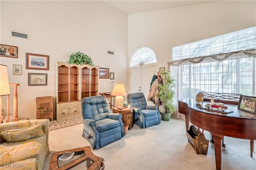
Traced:
MULTIPOLYGON (((222 55, 256 49, 256 27, 172 48, 172 61, 222 55)), ((177 80, 176 99, 195 98, 198 92, 219 92, 256 96, 256 53, 254 57, 237 53, 224 61, 208 57, 202 63, 171 66, 177 80)))

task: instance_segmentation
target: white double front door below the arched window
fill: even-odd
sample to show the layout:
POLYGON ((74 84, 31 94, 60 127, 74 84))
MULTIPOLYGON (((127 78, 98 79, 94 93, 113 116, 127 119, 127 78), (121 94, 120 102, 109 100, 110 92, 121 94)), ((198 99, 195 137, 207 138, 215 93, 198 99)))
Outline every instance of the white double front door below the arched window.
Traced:
MULTIPOLYGON (((148 100, 150 83, 155 74, 155 66, 130 69, 130 93, 142 92, 148 100)), ((148 105, 154 105, 148 102, 148 105)))

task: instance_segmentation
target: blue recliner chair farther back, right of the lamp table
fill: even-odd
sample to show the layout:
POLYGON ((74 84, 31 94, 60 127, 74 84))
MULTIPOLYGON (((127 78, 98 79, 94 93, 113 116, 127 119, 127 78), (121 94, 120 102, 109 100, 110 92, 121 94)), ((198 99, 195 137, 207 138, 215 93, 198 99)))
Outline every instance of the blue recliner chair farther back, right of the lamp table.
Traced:
POLYGON ((131 93, 127 95, 128 105, 134 107, 134 122, 139 127, 150 127, 161 123, 160 112, 157 106, 147 106, 143 93, 131 93))

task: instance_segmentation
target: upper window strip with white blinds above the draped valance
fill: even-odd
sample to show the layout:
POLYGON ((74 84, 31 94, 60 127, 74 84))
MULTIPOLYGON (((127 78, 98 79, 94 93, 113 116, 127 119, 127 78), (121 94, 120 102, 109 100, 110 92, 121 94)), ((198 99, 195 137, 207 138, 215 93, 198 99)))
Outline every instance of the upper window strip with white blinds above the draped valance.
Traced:
POLYGON ((173 47, 172 61, 255 48, 256 27, 250 27, 173 47))

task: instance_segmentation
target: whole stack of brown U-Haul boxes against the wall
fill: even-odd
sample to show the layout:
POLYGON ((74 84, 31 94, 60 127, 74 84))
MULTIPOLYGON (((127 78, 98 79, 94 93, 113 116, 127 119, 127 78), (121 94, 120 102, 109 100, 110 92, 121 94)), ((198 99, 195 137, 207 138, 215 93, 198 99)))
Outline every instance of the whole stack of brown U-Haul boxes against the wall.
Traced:
POLYGON ((52 96, 36 98, 36 119, 49 119, 53 121, 52 96))

